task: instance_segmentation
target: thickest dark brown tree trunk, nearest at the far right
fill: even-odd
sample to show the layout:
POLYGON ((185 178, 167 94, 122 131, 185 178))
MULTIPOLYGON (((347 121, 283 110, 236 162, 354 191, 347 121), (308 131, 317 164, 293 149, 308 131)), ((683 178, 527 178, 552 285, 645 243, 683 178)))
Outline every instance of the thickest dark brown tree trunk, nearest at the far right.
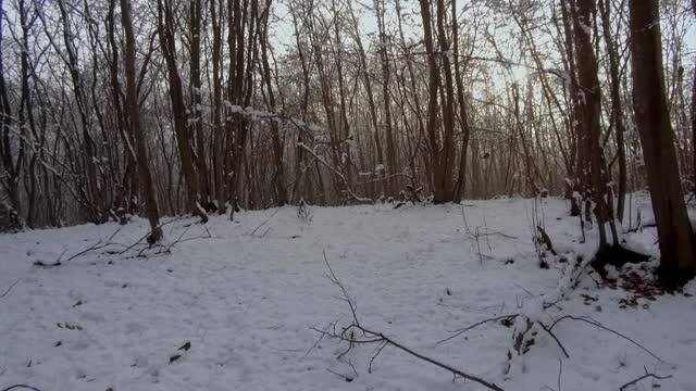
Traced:
POLYGON ((679 285, 696 274, 694 235, 667 109, 658 0, 630 0, 633 106, 660 244, 659 275, 679 285))

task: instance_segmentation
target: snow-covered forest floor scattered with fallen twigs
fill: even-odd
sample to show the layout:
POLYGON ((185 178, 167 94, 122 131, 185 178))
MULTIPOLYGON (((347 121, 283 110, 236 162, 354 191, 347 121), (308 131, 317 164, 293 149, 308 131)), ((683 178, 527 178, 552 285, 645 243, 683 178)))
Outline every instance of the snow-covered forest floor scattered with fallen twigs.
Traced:
MULTIPOLYGON (((557 249, 587 251, 562 200, 537 205, 557 249)), ((645 200, 634 200, 634 222, 639 207, 644 219, 649 215, 645 200)), ((546 324, 591 316, 661 362, 581 321, 554 329, 570 358, 537 330, 507 376, 511 327, 489 324, 438 343, 556 289, 563 265, 539 268, 530 228, 534 210, 532 200, 510 199, 313 207, 311 222, 295 207, 243 212, 234 223, 213 217, 204 227, 186 219, 164 226, 167 243, 198 238, 174 244, 171 254, 135 257, 139 247, 114 254, 122 247, 109 245, 58 267, 33 263, 66 260, 121 226, 0 236, 0 390, 15 383, 42 391, 484 389, 452 381, 451 374, 391 346, 369 373, 377 345, 356 346, 340 361, 346 343, 323 338, 315 345, 314 329, 351 319, 326 277, 323 252, 364 327, 505 390, 560 391, 559 382, 562 391, 618 390, 644 368, 671 378, 646 379, 635 390, 696 390, 696 298, 687 297, 696 294, 694 282, 687 295, 639 299, 622 308, 621 299, 632 293, 597 289, 585 277, 542 315, 546 324), (178 351, 186 342, 190 349, 178 351), (181 357, 170 364, 174 355, 181 357)), ((145 234, 138 219, 111 241, 130 244, 145 234)), ((656 253, 654 230, 626 238, 656 253)))

